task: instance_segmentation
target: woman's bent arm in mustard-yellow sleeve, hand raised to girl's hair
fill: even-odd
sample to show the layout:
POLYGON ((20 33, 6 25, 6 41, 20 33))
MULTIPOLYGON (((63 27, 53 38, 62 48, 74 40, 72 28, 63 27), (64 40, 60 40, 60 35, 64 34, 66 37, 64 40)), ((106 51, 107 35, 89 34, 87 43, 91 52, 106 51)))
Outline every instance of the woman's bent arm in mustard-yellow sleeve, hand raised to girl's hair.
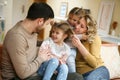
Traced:
POLYGON ((77 37, 74 37, 72 41, 78 48, 79 53, 91 67, 99 65, 101 40, 98 36, 96 36, 92 44, 88 43, 89 47, 84 46, 77 37))

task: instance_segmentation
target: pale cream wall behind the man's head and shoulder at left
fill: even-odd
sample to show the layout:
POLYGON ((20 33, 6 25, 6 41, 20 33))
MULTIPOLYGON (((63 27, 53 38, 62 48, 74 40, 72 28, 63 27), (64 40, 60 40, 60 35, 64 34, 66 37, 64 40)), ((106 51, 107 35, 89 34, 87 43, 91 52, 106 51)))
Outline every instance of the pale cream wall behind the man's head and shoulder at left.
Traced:
POLYGON ((3 17, 5 18, 5 34, 16 24, 16 22, 26 17, 28 8, 32 2, 33 0, 7 0, 7 5, 3 7, 3 17), (22 12, 23 6, 24 12, 22 12))

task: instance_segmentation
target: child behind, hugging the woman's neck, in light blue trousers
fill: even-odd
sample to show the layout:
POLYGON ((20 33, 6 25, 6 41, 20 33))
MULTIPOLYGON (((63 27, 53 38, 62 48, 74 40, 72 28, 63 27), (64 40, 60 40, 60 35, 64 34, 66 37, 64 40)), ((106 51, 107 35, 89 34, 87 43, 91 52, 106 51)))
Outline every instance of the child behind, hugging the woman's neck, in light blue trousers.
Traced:
MULTIPOLYGON (((68 19, 67 19, 67 23, 70 25, 71 29, 76 30, 75 28, 77 28, 78 24, 79 24, 79 20, 81 19, 81 17, 85 15, 85 11, 82 8, 79 7, 74 7, 73 9, 71 9, 71 11, 68 14, 68 19)), ((84 34, 76 34, 77 37, 79 37, 79 39, 86 39, 86 35, 84 34)), ((72 42, 70 39, 67 39, 65 41, 71 48, 71 55, 68 58, 68 68, 69 68, 69 72, 76 72, 76 66, 75 66, 75 58, 76 58, 76 48, 72 45, 72 42)))

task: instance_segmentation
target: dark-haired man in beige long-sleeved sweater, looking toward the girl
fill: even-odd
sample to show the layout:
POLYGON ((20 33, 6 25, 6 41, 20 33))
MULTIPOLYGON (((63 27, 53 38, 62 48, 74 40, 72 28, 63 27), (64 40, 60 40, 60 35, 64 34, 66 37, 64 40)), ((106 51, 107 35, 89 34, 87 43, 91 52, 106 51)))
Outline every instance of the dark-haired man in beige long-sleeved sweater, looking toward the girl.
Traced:
POLYGON ((48 4, 33 3, 27 17, 7 32, 2 54, 3 80, 41 80, 36 72, 49 59, 50 50, 38 52, 36 33, 52 18, 54 12, 48 4))

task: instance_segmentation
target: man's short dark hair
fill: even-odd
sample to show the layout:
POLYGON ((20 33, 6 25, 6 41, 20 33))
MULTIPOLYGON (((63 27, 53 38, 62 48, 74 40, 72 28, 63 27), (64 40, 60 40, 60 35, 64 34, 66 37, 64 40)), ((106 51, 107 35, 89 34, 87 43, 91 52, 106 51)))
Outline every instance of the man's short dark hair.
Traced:
POLYGON ((44 20, 47 20, 49 18, 54 18, 54 12, 47 3, 34 2, 29 8, 26 18, 31 20, 44 18, 44 20))

